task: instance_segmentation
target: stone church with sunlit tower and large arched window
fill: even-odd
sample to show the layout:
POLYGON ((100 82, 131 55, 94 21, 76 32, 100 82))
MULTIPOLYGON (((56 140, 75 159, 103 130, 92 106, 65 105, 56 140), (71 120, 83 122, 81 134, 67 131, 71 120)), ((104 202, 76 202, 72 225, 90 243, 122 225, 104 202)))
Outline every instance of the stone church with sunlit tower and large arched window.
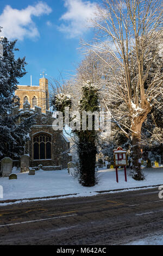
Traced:
POLYGON ((31 127, 30 141, 26 145, 24 154, 29 155, 29 166, 37 167, 42 164, 43 169, 67 168, 72 161, 68 149, 70 142, 63 132, 53 130, 52 112, 48 106, 48 80, 40 78, 39 86, 17 86, 15 95, 20 98, 20 106, 16 106, 14 114, 20 113, 21 118, 27 118, 37 113, 35 125, 31 127))

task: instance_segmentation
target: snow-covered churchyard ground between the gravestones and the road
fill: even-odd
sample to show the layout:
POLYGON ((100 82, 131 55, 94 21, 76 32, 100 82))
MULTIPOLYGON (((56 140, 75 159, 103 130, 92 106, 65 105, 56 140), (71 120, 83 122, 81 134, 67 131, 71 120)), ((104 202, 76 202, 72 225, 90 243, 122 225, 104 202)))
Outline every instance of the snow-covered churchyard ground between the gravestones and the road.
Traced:
POLYGON ((146 175, 146 179, 136 181, 129 176, 129 171, 127 171, 126 182, 124 181, 124 170, 119 169, 119 182, 117 183, 115 169, 103 168, 98 171, 99 182, 96 186, 83 187, 78 183, 77 179, 68 174, 66 169, 53 171, 37 170, 35 175, 28 175, 28 172, 20 173, 14 169, 13 173, 17 174, 17 180, 9 180, 8 177, 0 178, 0 185, 3 187, 3 199, 0 198, 0 200, 58 196, 73 193, 77 193, 76 197, 94 196, 98 194, 96 191, 163 184, 162 167, 146 168, 143 169, 143 172, 146 175))

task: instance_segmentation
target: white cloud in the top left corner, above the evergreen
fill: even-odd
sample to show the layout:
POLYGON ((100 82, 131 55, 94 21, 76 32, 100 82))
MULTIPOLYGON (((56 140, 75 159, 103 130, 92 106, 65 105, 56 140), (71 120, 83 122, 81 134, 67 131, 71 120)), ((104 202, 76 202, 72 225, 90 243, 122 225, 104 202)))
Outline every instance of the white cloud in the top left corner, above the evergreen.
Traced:
POLYGON ((22 10, 12 9, 10 5, 6 5, 0 15, 0 26, 3 27, 1 35, 8 39, 19 40, 25 37, 36 38, 39 36, 39 31, 32 21, 32 16, 39 17, 51 12, 52 9, 43 2, 38 2, 34 6, 28 5, 22 10))

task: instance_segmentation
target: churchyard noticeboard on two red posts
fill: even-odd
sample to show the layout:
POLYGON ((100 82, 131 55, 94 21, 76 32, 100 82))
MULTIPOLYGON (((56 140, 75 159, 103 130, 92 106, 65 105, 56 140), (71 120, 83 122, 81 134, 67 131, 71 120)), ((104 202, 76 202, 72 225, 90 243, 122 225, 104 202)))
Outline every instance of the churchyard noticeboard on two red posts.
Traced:
POLYGON ((128 165, 127 162, 127 151, 118 147, 117 149, 113 150, 114 153, 114 166, 116 168, 116 180, 118 182, 118 167, 124 166, 124 177, 125 181, 127 182, 127 174, 126 174, 126 166, 128 165))

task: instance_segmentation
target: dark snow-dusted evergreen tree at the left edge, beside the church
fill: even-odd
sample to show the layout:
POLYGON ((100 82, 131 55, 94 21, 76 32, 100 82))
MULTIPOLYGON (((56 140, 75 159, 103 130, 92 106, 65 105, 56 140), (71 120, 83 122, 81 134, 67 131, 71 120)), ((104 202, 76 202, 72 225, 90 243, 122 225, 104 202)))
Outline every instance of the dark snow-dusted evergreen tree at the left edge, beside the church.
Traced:
MULTIPOLYGON (((1 28, 0 28, 1 32, 1 28)), ((18 84, 17 78, 26 74, 25 58, 15 59, 15 41, 1 38, 3 54, 0 56, 0 158, 18 157, 24 153, 24 144, 29 139, 28 132, 34 123, 34 116, 20 122, 20 115, 12 110, 18 105, 14 95, 18 84)))

